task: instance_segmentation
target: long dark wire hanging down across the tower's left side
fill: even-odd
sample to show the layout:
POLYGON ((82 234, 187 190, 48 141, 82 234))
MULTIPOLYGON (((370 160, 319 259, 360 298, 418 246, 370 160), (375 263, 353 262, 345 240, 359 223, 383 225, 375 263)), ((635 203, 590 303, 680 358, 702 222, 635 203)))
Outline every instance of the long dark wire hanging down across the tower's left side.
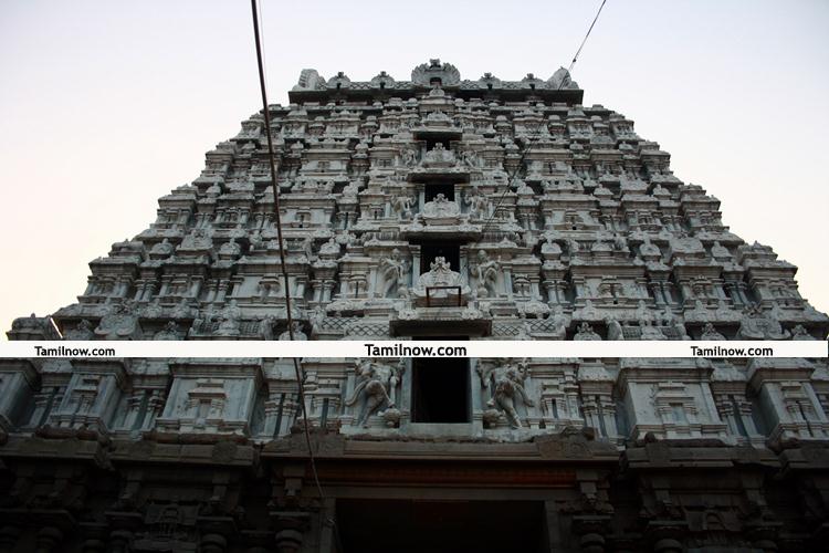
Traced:
MULTIPOLYGON (((262 109, 264 114, 265 119, 265 135, 267 137, 267 160, 269 166, 271 169, 271 187, 273 189, 273 211, 274 211, 274 220, 276 223, 276 241, 279 242, 279 251, 280 251, 280 268, 282 272, 282 278, 284 281, 284 291, 285 291, 285 312, 286 312, 286 320, 287 320, 287 334, 288 340, 294 341, 294 320, 293 320, 293 313, 291 307, 291 289, 288 286, 288 274, 287 274, 287 268, 285 265, 285 243, 283 241, 282 237, 282 216, 280 212, 280 190, 279 185, 276 184, 276 161, 274 159, 274 152, 273 152, 273 137, 271 135, 271 111, 267 103, 267 91, 265 86, 265 72, 264 72, 264 64, 263 64, 263 48, 262 48, 262 41, 260 38, 260 29, 259 29, 259 13, 256 10, 256 3, 258 0, 251 0, 251 12, 253 17, 253 36, 256 43, 256 65, 259 67, 259 86, 260 92, 262 94, 262 109)), ((322 503, 323 509, 325 508, 327 501, 325 492, 323 491, 323 487, 319 482, 319 474, 317 472, 316 468, 316 459, 314 456, 314 448, 311 444, 311 430, 308 429, 308 409, 307 405, 305 404, 305 390, 304 390, 304 384, 305 384, 305 375, 302 369, 302 365, 300 363, 300 359, 297 357, 293 357, 294 362, 294 376, 296 378, 297 384, 297 396, 300 399, 300 405, 302 408, 302 416, 304 424, 302 425, 304 428, 304 435, 305 435, 305 445, 308 449, 308 462, 311 465, 311 472, 312 478, 314 479, 314 484, 316 487, 317 493, 319 494, 319 502, 322 503)), ((333 518, 328 519, 328 522, 334 526, 335 533, 336 533, 336 522, 333 518)))

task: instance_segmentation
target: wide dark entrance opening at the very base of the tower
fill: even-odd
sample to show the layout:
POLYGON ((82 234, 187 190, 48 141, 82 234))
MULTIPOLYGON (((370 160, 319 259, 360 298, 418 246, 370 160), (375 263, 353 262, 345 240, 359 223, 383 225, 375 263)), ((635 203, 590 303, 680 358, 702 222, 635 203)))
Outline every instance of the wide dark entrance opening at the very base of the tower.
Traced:
POLYGON ((538 553, 547 542, 544 505, 531 501, 337 500, 337 526, 342 553, 538 553))

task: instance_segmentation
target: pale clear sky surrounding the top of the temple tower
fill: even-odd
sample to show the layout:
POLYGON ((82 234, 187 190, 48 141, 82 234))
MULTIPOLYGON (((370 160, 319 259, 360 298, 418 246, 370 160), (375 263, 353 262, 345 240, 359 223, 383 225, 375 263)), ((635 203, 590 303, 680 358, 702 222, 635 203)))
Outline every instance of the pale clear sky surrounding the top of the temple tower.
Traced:
MULTIPOLYGON (((262 0, 272 103, 303 67, 549 77, 600 3, 262 0)), ((829 311, 829 2, 608 0, 573 77, 636 122, 724 223, 829 311)), ((83 293, 87 263, 261 108, 250 3, 0 0, 0 330, 83 293)))

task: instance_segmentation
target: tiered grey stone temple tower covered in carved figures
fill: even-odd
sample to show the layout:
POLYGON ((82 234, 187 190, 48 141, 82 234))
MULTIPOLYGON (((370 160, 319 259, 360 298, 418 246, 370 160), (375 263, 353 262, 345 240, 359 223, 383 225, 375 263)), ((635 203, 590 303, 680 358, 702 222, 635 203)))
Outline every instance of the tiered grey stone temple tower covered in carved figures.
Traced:
MULTIPOLYGON (((825 340, 633 122, 305 70, 10 340, 825 340), (60 333, 59 333, 60 331, 60 333)), ((827 359, 0 361, 0 551, 770 552, 829 538, 827 359), (309 463, 304 428, 315 463, 309 463), (318 476, 316 486, 314 473, 318 476)))

